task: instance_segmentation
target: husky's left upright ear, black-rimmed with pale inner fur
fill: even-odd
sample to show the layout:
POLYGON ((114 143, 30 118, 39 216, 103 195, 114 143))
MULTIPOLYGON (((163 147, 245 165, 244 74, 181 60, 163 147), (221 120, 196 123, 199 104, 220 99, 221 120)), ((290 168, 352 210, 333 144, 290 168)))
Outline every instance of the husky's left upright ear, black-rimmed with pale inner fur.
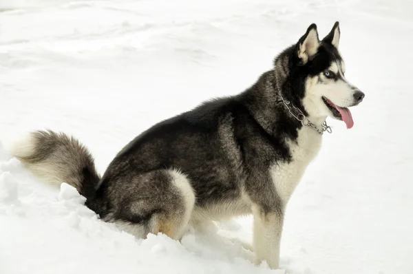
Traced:
POLYGON ((302 63, 305 64, 312 59, 317 53, 320 41, 318 38, 317 25, 311 24, 306 34, 304 34, 297 43, 297 54, 302 63))

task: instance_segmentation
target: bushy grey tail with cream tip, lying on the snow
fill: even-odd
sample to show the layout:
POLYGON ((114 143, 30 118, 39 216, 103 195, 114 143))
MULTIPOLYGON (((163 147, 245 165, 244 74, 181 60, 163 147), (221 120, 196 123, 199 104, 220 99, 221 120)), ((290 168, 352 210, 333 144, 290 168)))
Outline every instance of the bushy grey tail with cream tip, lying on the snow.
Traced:
POLYGON ((65 182, 81 195, 94 195, 100 178, 94 158, 73 137, 54 131, 35 131, 12 147, 11 153, 43 182, 60 186, 65 182))

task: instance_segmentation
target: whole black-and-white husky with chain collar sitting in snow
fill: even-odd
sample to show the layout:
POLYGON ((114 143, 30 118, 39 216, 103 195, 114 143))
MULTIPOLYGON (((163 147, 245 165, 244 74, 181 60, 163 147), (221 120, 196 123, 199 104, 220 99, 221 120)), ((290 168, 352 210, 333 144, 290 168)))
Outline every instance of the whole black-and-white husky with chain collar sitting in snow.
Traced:
POLYGON ((66 182, 105 222, 145 238, 180 240, 188 224, 253 214, 253 251, 279 266, 284 212, 321 146, 328 116, 353 126, 364 94, 344 77, 335 23, 321 41, 310 25, 274 68, 237 96, 219 98, 147 129, 102 177, 72 137, 36 131, 12 150, 43 181, 66 182))

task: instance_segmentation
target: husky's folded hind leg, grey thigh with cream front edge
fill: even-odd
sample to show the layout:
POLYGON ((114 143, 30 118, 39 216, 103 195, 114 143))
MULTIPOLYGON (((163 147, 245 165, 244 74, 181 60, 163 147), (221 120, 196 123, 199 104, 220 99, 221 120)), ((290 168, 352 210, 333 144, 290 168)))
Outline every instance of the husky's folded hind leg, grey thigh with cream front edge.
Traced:
POLYGON ((180 240, 195 204, 187 177, 173 169, 151 171, 136 176, 129 187, 106 220, 138 238, 163 233, 180 240))

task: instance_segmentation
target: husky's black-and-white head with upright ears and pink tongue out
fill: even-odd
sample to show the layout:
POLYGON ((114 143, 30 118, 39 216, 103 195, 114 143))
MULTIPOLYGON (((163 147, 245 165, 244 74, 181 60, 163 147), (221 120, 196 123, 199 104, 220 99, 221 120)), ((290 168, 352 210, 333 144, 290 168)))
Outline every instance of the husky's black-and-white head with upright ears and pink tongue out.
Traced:
POLYGON ((291 85, 310 117, 337 118, 350 129, 354 122, 348 107, 363 101, 364 94, 344 76, 346 67, 339 54, 339 40, 339 22, 321 41, 317 26, 310 25, 306 34, 292 47, 294 56, 289 64, 290 81, 297 79, 300 82, 291 85))

